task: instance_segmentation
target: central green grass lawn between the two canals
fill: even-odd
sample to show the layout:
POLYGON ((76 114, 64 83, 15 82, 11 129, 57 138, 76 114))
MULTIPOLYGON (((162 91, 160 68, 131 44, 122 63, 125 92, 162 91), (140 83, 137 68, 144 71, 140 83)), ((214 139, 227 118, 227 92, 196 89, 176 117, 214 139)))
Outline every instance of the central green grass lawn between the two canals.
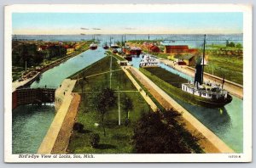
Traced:
MULTIPOLYGON (((109 87, 109 72, 99 76, 92 76, 87 79, 87 83, 84 84, 84 96, 79 104, 79 112, 77 115, 77 121, 84 125, 83 132, 73 132, 70 138, 68 149, 73 154, 129 154, 134 153, 133 145, 131 143, 131 137, 133 136, 133 130, 137 120, 142 113, 150 111, 150 107, 144 101, 143 97, 137 89, 133 86, 129 78, 125 75, 123 70, 119 70, 119 64, 116 63, 116 59, 113 59, 113 72, 112 76, 112 88, 117 90, 119 86, 120 91, 134 91, 134 92, 120 92, 120 102, 125 98, 125 95, 130 97, 133 104, 133 109, 130 112, 131 123, 128 126, 124 126, 124 120, 126 113, 122 110, 122 104, 120 104, 121 114, 121 126, 119 123, 119 108, 116 104, 112 110, 108 111, 105 116, 106 137, 103 135, 103 128, 101 126, 101 115, 94 109, 91 103, 94 93, 92 91, 99 91, 99 88, 109 87), (100 124, 96 126, 95 123, 100 124), (97 148, 91 148, 89 142, 90 133, 98 133, 101 140, 97 148)), ((85 70, 80 71, 80 76, 88 76, 93 73, 101 73, 109 70, 110 57, 106 57, 96 64, 90 66, 85 70), (97 70, 100 69, 100 70, 97 70)), ((81 92, 80 84, 76 84, 73 92, 81 92)), ((118 92, 115 93, 118 98, 118 92)))

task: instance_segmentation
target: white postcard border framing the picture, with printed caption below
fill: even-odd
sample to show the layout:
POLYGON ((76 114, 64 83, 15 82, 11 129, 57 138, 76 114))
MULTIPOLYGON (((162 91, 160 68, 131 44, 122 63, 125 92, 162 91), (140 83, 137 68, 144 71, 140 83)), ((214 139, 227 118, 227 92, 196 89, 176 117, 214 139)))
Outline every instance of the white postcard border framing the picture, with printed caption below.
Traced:
MULTIPOLYGON (((4 160, 6 162, 248 162, 252 160, 252 7, 241 4, 86 4, 86 5, 11 5, 5 8, 4 20, 4 160), (122 8, 121 8, 122 7, 122 8), (196 7, 196 8, 195 8, 196 7), (94 158, 67 159, 20 158, 12 154, 11 119, 11 14, 37 12, 65 13, 156 13, 156 12, 243 12, 244 99, 243 154, 93 154, 94 158), (232 158, 232 155, 235 158, 232 158), (236 158, 240 156, 241 158, 236 158), (230 158, 231 157, 231 158, 230 158)), ((32 156, 32 154, 30 154, 32 156)), ((68 154, 74 156, 74 154, 68 154)), ((61 156, 66 156, 62 154, 61 156)), ((81 154, 84 156, 84 154, 81 154)), ((36 156, 35 156, 36 157, 36 156)))

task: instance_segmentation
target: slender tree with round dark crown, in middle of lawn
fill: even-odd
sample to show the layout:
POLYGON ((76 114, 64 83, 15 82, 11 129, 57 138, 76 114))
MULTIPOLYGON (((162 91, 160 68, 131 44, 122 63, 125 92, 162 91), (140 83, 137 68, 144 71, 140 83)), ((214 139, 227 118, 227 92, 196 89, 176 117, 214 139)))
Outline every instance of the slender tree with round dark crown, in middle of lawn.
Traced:
POLYGON ((93 98, 92 104, 94 104, 96 111, 101 115, 104 136, 106 136, 105 115, 108 113, 109 109, 112 109, 113 106, 116 105, 116 100, 117 98, 114 95, 113 89, 108 87, 103 88, 101 92, 97 92, 93 98))

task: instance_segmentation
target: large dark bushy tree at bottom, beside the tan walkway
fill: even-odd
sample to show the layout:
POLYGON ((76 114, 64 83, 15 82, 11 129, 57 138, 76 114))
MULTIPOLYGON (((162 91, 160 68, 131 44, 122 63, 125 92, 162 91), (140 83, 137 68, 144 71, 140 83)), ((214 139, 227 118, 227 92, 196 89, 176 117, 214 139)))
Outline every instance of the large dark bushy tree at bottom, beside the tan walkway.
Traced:
MULTIPOLYGON (((173 110, 166 111, 164 114, 142 115, 132 137, 136 152, 138 154, 189 154, 195 152, 194 148, 190 148, 190 144, 197 144, 197 139, 189 132, 185 132, 182 129, 183 126, 177 123, 180 114, 173 110)), ((201 152, 199 149, 195 153, 201 152)))

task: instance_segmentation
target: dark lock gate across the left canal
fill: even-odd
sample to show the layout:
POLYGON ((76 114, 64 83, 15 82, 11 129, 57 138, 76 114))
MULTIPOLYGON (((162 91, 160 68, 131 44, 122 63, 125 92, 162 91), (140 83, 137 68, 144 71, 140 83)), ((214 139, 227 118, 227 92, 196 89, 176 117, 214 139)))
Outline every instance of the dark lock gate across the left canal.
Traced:
POLYGON ((12 93, 12 109, 20 104, 44 104, 55 102, 55 88, 20 88, 12 93))

